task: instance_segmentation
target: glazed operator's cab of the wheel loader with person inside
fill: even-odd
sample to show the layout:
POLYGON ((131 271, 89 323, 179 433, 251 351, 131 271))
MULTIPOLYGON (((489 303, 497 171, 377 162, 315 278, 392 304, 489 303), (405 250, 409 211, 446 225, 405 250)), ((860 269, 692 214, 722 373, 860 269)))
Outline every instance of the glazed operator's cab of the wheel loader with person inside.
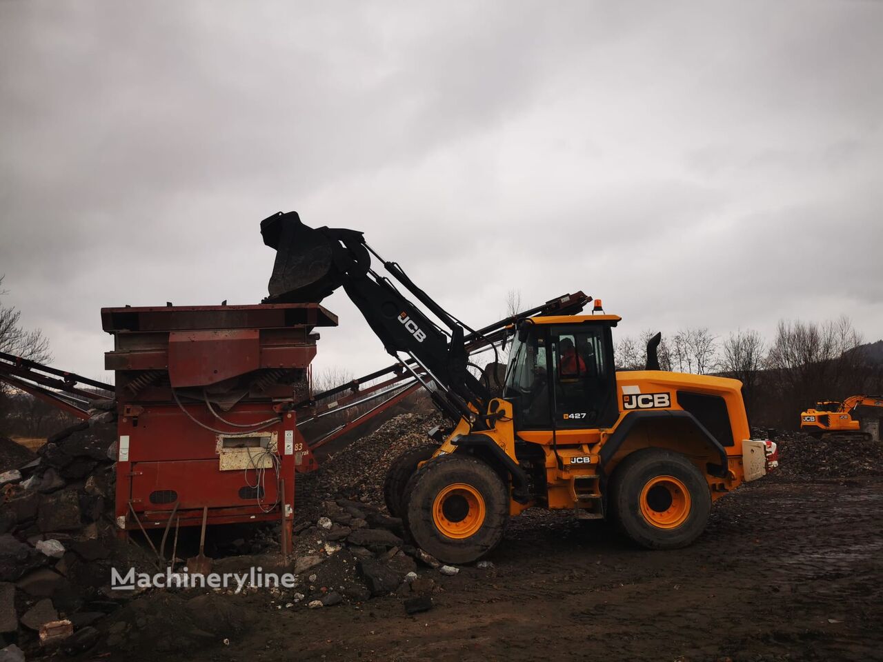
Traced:
POLYGON ((503 397, 520 430, 614 425, 614 315, 526 320, 509 351, 503 397))

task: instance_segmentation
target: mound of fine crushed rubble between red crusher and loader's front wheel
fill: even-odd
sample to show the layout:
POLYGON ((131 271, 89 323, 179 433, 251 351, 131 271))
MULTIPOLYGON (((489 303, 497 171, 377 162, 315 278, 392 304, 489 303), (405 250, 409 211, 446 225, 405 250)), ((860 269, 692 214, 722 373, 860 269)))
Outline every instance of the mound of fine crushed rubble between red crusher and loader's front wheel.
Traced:
POLYGON ((391 418, 374 433, 354 440, 321 464, 313 493, 329 499, 338 496, 370 503, 383 502, 383 478, 389 464, 404 451, 429 441, 426 433, 449 425, 433 411, 391 418))

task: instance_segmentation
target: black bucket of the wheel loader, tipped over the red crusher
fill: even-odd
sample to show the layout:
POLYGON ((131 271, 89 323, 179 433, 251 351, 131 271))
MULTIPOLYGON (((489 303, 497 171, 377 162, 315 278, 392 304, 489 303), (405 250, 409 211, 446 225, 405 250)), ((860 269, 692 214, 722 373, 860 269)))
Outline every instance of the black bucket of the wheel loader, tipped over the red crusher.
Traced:
POLYGON ((343 282, 334 265, 332 240, 304 225, 297 212, 265 218, 260 234, 276 250, 265 303, 319 303, 343 282))

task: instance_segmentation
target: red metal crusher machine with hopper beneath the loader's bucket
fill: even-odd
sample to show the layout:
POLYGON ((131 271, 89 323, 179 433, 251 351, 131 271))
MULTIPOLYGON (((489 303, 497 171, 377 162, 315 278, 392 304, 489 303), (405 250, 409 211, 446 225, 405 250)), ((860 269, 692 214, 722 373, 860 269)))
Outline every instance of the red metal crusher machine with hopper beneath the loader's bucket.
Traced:
POLYGON ((103 308, 114 336, 116 521, 129 531, 274 521, 291 549, 296 473, 313 456, 296 427, 309 397, 318 304, 103 308))

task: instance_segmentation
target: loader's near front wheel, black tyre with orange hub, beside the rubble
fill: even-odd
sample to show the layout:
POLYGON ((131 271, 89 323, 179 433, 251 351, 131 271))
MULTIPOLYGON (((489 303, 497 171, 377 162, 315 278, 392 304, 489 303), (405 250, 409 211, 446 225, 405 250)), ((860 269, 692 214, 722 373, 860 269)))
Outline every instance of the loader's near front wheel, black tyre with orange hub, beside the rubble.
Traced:
POLYGON ((442 455, 420 467, 405 488, 402 505, 411 540, 444 563, 479 560, 499 545, 509 522, 506 485, 486 463, 466 455, 442 455), (436 520, 437 515, 442 519, 436 520), (445 531, 461 525, 465 529, 459 537, 445 531))

